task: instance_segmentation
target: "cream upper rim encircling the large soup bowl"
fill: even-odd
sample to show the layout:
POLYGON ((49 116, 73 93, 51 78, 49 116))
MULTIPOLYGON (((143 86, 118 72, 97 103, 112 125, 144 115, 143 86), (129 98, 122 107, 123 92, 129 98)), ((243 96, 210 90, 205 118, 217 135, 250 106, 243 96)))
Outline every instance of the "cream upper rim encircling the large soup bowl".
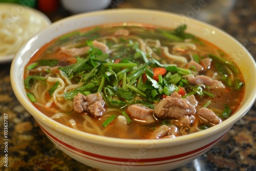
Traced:
MULTIPOLYGON (((53 28, 55 26, 61 25, 62 23, 66 23, 69 22, 70 20, 73 19, 77 19, 77 18, 81 18, 84 16, 90 17, 90 16, 95 16, 95 15, 104 15, 106 13, 155 13, 155 14, 165 14, 168 16, 175 16, 175 17, 181 17, 181 15, 176 14, 176 13, 172 13, 172 12, 165 12, 165 11, 159 11, 159 10, 149 10, 149 9, 115 9, 115 10, 100 10, 100 11, 94 11, 94 12, 89 12, 89 13, 81 13, 81 14, 76 14, 76 15, 72 15, 66 18, 62 18, 60 20, 58 20, 57 22, 54 22, 52 25, 48 26, 47 28, 39 31, 38 33, 36 33, 34 35, 34 37, 38 36, 41 32, 47 31, 49 28, 53 28)), ((188 17, 189 18, 189 17, 188 17)), ((229 39, 231 39, 233 42, 235 42, 237 45, 239 45, 243 51, 246 53, 246 55, 248 56, 248 58, 250 58, 251 60, 251 65, 253 65, 254 67, 254 71, 256 72, 256 64, 255 61, 253 59, 253 57, 251 56, 251 54, 249 53, 249 51, 235 38, 233 38, 231 35, 229 35, 228 33, 224 32, 223 30, 212 26, 210 24, 207 24, 205 22, 202 22, 200 20, 197 20, 195 18, 189 18, 189 20, 193 23, 196 24, 200 24, 203 25, 205 27, 210 27, 215 29, 217 32, 220 32, 221 34, 224 34, 226 37, 228 37, 229 39)), ((44 124, 46 124, 49 127, 53 127, 53 125, 55 125, 54 129, 60 133, 63 134, 67 134, 69 136, 71 136, 72 138, 75 139, 79 139, 84 141, 84 139, 87 139, 86 141, 88 142, 93 142, 95 144, 101 144, 101 145, 108 145, 108 146, 121 146, 121 147, 126 147, 126 148, 137 148, 137 145, 141 145, 141 144, 147 144, 147 142, 150 143, 154 143, 154 145, 160 147, 160 146, 170 146, 170 144, 172 145, 178 145, 178 144, 184 144, 184 143, 188 143, 191 141, 195 141, 195 140, 202 140, 203 138, 209 137, 209 136, 213 136, 218 132, 224 131, 225 129, 228 129, 228 127, 231 127, 235 122, 237 122, 240 118, 242 118, 246 112, 251 108, 251 106, 253 105, 253 102, 255 101, 256 98, 256 90, 254 90, 254 94, 252 94, 250 96, 250 103, 248 102, 246 106, 243 106, 243 109, 240 107, 239 111, 240 113, 234 113, 230 118, 228 118, 227 120, 223 121, 220 124, 217 124, 215 126, 210 127, 209 129, 197 132, 197 133, 193 133, 193 134, 188 134, 188 135, 182 135, 179 137, 176 137, 174 139, 150 139, 150 140, 137 140, 137 139, 121 139, 121 138, 112 138, 112 137, 104 137, 104 136, 99 136, 99 135, 94 135, 94 134, 90 134, 90 133, 86 133, 86 132, 82 132, 82 131, 78 131, 78 130, 74 130, 73 128, 63 125, 49 117, 47 117, 46 115, 44 115, 43 113, 41 113, 40 111, 38 111, 35 106, 28 100, 28 98, 26 97, 24 99, 24 94, 22 94, 21 92, 18 91, 18 88, 15 86, 15 68, 16 68, 16 60, 18 60, 19 55, 22 52, 22 49, 25 47, 25 45, 29 42, 30 40, 28 40, 24 46, 22 48, 20 48, 20 50, 16 53, 13 61, 12 61, 12 65, 11 65, 11 85, 13 87, 13 91, 14 94, 16 95, 17 99, 19 100, 19 102, 25 107, 25 109, 31 113, 31 115, 35 118, 38 119, 40 122, 43 122, 44 124)), ((225 133, 223 133, 225 134, 225 133)), ((141 147, 141 146, 140 146, 141 147)))

